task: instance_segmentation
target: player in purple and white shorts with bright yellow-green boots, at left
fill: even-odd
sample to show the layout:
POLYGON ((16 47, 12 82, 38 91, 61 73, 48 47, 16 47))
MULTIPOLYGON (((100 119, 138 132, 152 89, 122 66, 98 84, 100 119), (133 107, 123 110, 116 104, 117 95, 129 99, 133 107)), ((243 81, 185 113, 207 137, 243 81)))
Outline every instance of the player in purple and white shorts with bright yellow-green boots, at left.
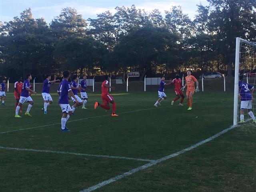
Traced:
POLYGON ((19 110, 20 110, 20 106, 22 106, 22 104, 24 102, 28 102, 28 109, 25 113, 26 116, 32 117, 32 115, 30 115, 30 109, 32 108, 34 102, 32 100, 32 98, 30 97, 29 92, 32 92, 33 94, 36 94, 35 91, 30 89, 30 80, 32 79, 31 74, 26 74, 26 80, 23 83, 23 88, 22 88, 22 92, 20 94, 20 100, 19 100, 19 104, 16 107, 16 112, 15 112, 15 117, 20 118, 21 116, 19 116, 19 110))

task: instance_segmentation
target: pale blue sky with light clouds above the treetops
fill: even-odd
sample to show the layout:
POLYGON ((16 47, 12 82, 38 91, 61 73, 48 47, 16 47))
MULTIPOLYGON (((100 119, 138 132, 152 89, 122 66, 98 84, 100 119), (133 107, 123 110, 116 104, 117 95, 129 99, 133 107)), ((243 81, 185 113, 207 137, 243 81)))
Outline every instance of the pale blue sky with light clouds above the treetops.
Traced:
POLYGON ((84 19, 96 18, 97 14, 110 10, 115 13, 116 6, 144 9, 146 12, 158 9, 164 16, 165 10, 180 5, 184 14, 193 19, 198 4, 208 5, 207 0, 0 0, 0 21, 8 22, 26 8, 32 9, 34 18, 43 17, 47 23, 58 16, 62 8, 75 8, 84 19))

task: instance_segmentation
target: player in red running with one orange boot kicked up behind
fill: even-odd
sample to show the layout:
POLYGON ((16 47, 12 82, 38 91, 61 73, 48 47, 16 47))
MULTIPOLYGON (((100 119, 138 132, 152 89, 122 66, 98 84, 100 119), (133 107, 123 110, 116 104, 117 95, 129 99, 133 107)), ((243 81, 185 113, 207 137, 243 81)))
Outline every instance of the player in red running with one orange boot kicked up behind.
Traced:
POLYGON ((112 115, 111 116, 118 116, 115 114, 116 112, 116 102, 114 101, 114 98, 108 93, 108 88, 114 89, 114 87, 110 87, 108 85, 109 76, 105 76, 105 81, 101 85, 101 99, 103 101, 103 105, 99 102, 95 102, 94 109, 96 109, 98 106, 101 108, 104 108, 106 110, 110 109, 109 103, 112 103, 112 115))

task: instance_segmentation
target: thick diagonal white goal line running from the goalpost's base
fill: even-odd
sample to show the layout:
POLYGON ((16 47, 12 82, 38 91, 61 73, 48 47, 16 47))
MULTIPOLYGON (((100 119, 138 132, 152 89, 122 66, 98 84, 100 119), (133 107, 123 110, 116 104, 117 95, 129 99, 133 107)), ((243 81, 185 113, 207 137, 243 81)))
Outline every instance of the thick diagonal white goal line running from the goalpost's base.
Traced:
POLYGON ((218 133, 215 134, 214 136, 211 136, 211 137, 209 137, 209 138, 206 139, 206 140, 200 141, 200 142, 198 142, 197 144, 194 144, 194 145, 192 145, 192 146, 190 146, 190 147, 188 147, 188 148, 186 148, 186 149, 184 149, 184 150, 178 151, 178 152, 176 152, 176 153, 170 154, 170 155, 168 155, 168 156, 165 156, 165 157, 160 158, 160 159, 158 159, 158 160, 155 160, 155 161, 153 161, 153 162, 150 162, 150 163, 144 164, 144 165, 142 165, 142 166, 139 166, 139 167, 137 167, 137 168, 134 168, 134 169, 132 169, 132 170, 129 170, 128 172, 125 172, 125 173, 123 173, 123 174, 120 174, 120 175, 118 175, 118 176, 115 176, 115 177, 113 177, 113 178, 110 178, 110 179, 108 179, 108 180, 105 180, 105 181, 103 181, 103 182, 101 182, 101 183, 99 183, 99 184, 96 184, 96 185, 94 185, 94 186, 91 186, 91 187, 89 187, 89 188, 87 188, 87 189, 81 190, 80 192, 91 192, 91 191, 94 191, 94 190, 96 190, 96 189, 98 189, 98 188, 101 188, 101 187, 107 185, 107 184, 110 184, 110 183, 115 182, 115 181, 117 181, 117 180, 119 180, 119 179, 122 179, 122 178, 124 178, 124 177, 126 177, 126 176, 129 176, 129 175, 131 175, 131 174, 134 174, 134 173, 136 173, 136 172, 138 172, 138 171, 140 171, 140 170, 144 170, 144 169, 146 169, 146 168, 148 168, 148 167, 151 167, 151 166, 153 166, 153 165, 156 165, 156 164, 158 164, 158 163, 160 163, 160 162, 163 162, 163 161, 168 160, 168 159, 170 159, 170 158, 176 157, 176 156, 178 156, 178 155, 180 155, 180 154, 182 154, 182 153, 185 153, 185 152, 187 152, 187 151, 190 151, 190 150, 192 150, 192 149, 194 149, 194 148, 196 148, 196 147, 198 147, 198 146, 200 146, 200 145, 202 145, 202 144, 205 144, 205 143, 207 143, 207 142, 209 142, 209 141, 212 141, 212 140, 214 140, 215 138, 217 138, 218 136, 221 136, 222 134, 224 134, 224 133, 228 132, 229 130, 232 130, 232 129, 238 127, 238 126, 239 126, 239 125, 237 125, 237 126, 231 126, 230 128, 224 129, 223 131, 218 132, 218 133))

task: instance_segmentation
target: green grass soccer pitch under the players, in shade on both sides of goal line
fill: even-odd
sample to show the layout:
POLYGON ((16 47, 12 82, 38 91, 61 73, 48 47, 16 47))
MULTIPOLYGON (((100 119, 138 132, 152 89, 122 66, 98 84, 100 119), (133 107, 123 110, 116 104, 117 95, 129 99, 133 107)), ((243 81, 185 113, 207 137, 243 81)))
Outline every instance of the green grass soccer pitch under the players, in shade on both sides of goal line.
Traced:
MULTIPOLYGON (((0 107, 0 191, 79 192, 145 164, 154 164, 97 192, 255 192, 256 128, 239 126, 192 150, 156 163, 232 125, 232 93, 200 92, 193 110, 170 105, 172 92, 158 108, 157 92, 112 94, 116 113, 93 109, 99 94, 89 94, 60 132, 58 96, 44 115, 42 96, 32 96, 32 117, 14 118, 15 100, 0 107), (90 156, 96 155, 96 156, 90 156), (98 156, 97 156, 98 155, 98 156)), ((185 100, 186 102, 186 100, 185 100)), ((27 104, 24 104, 25 112, 27 104)), ((112 180, 111 180, 112 181, 112 180)), ((90 191, 90 190, 87 190, 90 191)))

